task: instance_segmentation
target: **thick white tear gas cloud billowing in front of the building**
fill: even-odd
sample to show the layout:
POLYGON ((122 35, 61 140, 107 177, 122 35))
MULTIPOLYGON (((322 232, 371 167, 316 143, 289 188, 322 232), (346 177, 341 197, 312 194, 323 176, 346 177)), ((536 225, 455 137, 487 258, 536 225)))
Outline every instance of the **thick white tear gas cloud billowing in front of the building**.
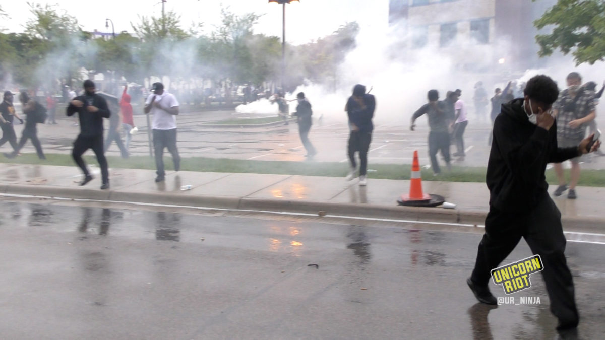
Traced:
MULTIPOLYGON (((603 79, 592 78, 595 75, 605 75, 603 63, 575 66, 571 56, 563 56, 558 52, 551 57, 540 59, 540 64, 543 65, 541 68, 516 71, 511 70, 506 63, 499 65, 500 68, 494 68, 493 65, 500 59, 502 51, 515 48, 515 44, 508 39, 499 39, 489 45, 458 41, 454 47, 439 48, 428 45, 425 48, 410 49, 405 45, 411 39, 411 33, 402 35, 397 25, 384 32, 362 29, 357 37, 355 50, 348 53, 344 62, 338 65, 336 88, 333 84, 307 80, 304 85, 286 94, 286 99, 294 99, 296 93, 302 91, 312 103, 315 117, 323 116, 324 120, 342 121, 346 119, 344 104, 347 97, 351 95, 356 83, 362 83, 367 90, 373 88, 371 93, 376 96, 374 122, 407 127, 411 115, 427 102, 427 91, 433 88, 439 90, 440 100, 445 99, 446 91, 460 88, 460 99, 466 102, 468 110, 472 112, 474 85, 478 81, 483 82, 488 96, 491 97, 495 88, 503 89, 511 80, 520 86, 537 74, 552 77, 561 90, 566 88, 565 79, 571 71, 579 72, 583 76, 583 82, 594 80, 598 84, 603 83, 603 79), (457 65, 459 60, 465 58, 476 63, 476 70, 463 70, 457 65)), ((298 62, 296 59, 289 60, 288 64, 290 72, 298 62)), ((241 106, 238 111, 277 111, 276 106, 250 105, 253 104, 246 108, 241 106)), ((290 112, 292 111, 291 108, 290 112)), ((474 115, 471 115, 471 119, 473 117, 474 115)), ((417 122, 419 125, 427 125, 425 119, 417 122)))

